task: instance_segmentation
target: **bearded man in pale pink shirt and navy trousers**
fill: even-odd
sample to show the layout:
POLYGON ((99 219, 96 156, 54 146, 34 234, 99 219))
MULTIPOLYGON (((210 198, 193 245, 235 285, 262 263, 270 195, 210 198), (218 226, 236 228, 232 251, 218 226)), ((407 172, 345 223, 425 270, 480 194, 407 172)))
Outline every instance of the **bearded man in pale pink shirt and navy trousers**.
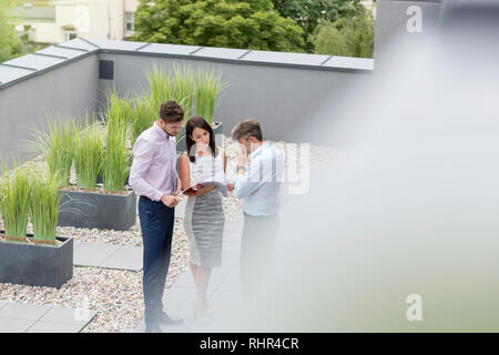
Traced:
POLYGON ((179 324, 163 311, 163 291, 170 266, 176 195, 182 186, 176 173, 176 142, 184 110, 175 101, 161 104, 160 119, 142 132, 133 146, 130 185, 140 195, 139 215, 144 245, 143 291, 145 331, 179 324))

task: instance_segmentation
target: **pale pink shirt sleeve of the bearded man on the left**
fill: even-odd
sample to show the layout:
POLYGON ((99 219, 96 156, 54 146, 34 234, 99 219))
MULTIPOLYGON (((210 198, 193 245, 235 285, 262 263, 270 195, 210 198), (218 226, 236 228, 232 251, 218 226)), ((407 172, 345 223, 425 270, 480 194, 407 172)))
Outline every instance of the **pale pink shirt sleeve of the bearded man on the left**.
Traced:
POLYGON ((130 185, 136 194, 146 196, 153 201, 160 201, 163 193, 153 187, 144 176, 151 166, 154 156, 154 144, 139 138, 133 146, 133 161, 130 170, 130 185))

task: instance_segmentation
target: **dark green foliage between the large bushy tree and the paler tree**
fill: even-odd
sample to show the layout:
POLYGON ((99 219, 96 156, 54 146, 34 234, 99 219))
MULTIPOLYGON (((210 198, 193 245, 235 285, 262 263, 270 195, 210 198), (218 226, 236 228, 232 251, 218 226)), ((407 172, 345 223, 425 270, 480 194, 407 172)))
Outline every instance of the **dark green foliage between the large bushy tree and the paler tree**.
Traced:
POLYGON ((304 31, 307 51, 314 48, 310 36, 317 26, 352 18, 364 11, 360 0, 272 0, 285 18, 294 20, 304 31))

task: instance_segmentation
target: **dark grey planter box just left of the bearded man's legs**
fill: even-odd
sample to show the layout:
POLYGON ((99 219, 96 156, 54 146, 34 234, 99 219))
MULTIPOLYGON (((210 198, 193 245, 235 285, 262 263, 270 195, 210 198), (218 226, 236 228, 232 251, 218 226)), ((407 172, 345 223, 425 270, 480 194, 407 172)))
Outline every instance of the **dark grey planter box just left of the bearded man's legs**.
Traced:
POLYGON ((80 229, 128 231, 136 220, 135 191, 126 195, 96 192, 59 191, 61 204, 69 211, 59 212, 58 225, 80 229), (78 210, 74 212, 72 210, 78 210))

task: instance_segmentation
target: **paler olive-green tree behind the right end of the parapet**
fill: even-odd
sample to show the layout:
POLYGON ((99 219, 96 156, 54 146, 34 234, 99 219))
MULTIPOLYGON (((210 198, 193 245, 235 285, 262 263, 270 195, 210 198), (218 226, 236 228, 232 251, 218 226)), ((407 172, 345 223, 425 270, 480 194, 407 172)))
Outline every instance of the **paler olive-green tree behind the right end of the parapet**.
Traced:
POLYGON ((353 18, 320 24, 310 37, 317 54, 373 58, 375 20, 365 10, 353 18))

